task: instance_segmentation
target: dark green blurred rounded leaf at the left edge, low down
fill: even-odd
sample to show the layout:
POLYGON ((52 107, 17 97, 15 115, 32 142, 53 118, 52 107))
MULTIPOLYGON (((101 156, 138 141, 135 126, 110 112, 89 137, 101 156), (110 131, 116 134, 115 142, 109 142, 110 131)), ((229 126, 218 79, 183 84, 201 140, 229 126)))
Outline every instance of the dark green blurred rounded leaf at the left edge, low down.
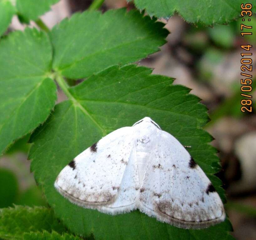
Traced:
POLYGON ((18 180, 8 169, 0 168, 0 208, 8 207, 18 197, 18 180))

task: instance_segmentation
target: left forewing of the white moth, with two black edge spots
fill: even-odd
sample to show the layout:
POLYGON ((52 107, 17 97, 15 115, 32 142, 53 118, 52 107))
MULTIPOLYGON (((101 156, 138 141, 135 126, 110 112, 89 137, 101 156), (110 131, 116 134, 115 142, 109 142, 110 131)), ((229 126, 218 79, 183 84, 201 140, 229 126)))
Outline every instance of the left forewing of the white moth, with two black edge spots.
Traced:
POLYGON ((132 128, 119 128, 63 168, 56 178, 55 188, 82 207, 111 204, 118 195, 133 149, 132 128))

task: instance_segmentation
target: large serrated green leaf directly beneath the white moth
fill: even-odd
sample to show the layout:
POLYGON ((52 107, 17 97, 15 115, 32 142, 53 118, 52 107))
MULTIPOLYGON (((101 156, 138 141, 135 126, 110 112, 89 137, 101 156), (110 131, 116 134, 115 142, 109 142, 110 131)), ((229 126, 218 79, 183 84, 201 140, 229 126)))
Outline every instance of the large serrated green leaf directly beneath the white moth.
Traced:
MULTIPOLYGON (((208 144, 212 137, 201 129, 208 121, 206 108, 189 94, 190 89, 171 85, 172 78, 151 72, 134 65, 114 66, 70 88, 70 100, 57 104, 50 118, 31 136, 34 143, 29 159, 35 179, 43 186, 56 216, 77 235, 93 233, 95 239, 107 240, 231 239, 228 220, 204 230, 185 230, 139 211, 111 216, 78 207, 54 188, 57 175, 76 155, 107 133, 131 126, 145 116, 183 145, 190 145, 192 157, 215 180, 213 174, 219 171, 216 150, 208 144)), ((224 198, 220 184, 213 182, 224 198)))

